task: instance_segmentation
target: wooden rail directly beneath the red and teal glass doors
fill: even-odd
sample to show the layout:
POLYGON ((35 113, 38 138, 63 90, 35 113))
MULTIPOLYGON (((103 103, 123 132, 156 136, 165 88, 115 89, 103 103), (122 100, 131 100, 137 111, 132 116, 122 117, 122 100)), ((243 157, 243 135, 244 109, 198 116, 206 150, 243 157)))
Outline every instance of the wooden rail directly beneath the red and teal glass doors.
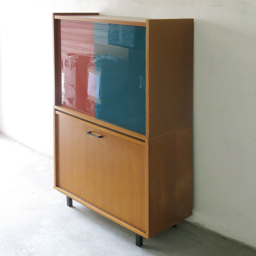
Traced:
POLYGON ((127 134, 129 136, 132 136, 132 137, 140 139, 140 140, 145 140, 145 141, 148 140, 148 138, 145 135, 142 135, 142 134, 137 133, 137 132, 129 131, 127 129, 124 129, 122 127, 116 126, 114 124, 109 124, 107 122, 104 122, 104 121, 101 121, 99 119, 96 119, 93 116, 88 116, 88 115, 86 115, 84 113, 81 113, 81 112, 78 112, 76 110, 73 110, 73 109, 70 109, 70 108, 66 108, 66 107, 62 107, 62 106, 56 106, 56 105, 54 105, 53 108, 55 108, 57 110, 60 110, 60 111, 62 111, 64 113, 67 113, 69 115, 82 118, 85 121, 89 121, 89 122, 92 122, 92 123, 95 123, 95 124, 99 124, 101 126, 106 127, 107 129, 111 129, 111 130, 114 130, 116 132, 127 134))

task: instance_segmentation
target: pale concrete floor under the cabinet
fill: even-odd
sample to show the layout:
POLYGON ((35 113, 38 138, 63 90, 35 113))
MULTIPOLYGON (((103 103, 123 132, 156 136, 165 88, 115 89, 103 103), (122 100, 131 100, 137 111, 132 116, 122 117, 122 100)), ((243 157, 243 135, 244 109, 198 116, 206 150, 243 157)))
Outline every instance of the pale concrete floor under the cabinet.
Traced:
POLYGON ((185 221, 142 247, 135 234, 53 189, 53 161, 0 135, 0 256, 256 256, 185 221))

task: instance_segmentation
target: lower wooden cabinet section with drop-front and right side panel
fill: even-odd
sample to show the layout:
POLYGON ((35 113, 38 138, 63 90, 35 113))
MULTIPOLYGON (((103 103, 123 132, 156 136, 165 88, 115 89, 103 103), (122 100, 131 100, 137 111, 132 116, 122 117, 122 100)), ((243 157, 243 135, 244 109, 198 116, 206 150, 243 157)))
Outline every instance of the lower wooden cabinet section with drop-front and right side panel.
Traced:
POLYGON ((142 141, 54 116, 57 190, 146 238, 192 215, 192 127, 142 141))

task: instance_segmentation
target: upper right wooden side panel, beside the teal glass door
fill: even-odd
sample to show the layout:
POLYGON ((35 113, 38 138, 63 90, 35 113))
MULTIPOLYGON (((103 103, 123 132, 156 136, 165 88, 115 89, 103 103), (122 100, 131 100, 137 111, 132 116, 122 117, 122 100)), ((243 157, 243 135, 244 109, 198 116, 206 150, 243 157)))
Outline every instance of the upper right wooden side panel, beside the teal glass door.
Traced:
POLYGON ((192 125, 194 23, 148 20, 147 26, 148 137, 153 137, 192 125))

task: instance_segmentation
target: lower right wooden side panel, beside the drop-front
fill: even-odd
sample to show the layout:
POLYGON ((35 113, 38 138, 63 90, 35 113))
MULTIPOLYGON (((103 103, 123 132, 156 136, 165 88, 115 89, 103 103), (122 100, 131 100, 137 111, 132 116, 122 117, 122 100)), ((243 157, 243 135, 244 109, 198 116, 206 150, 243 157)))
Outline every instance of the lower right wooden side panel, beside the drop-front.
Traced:
POLYGON ((192 127, 149 140, 149 237, 192 215, 192 127))

